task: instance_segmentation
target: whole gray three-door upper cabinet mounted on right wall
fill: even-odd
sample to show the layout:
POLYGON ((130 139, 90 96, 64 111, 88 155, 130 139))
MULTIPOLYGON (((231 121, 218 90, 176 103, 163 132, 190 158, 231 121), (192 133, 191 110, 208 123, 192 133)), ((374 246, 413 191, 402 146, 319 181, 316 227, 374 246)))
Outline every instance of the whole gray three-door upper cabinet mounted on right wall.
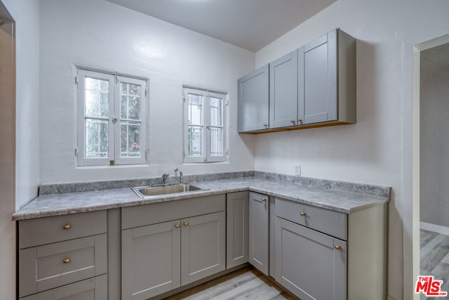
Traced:
POLYGON ((269 70, 265 66, 239 80, 239 132, 355 122, 356 39, 342 30, 332 30, 274 60, 269 70), (267 101, 260 99, 267 89, 265 112, 267 101), (262 111, 269 115, 269 124, 259 121, 262 111))

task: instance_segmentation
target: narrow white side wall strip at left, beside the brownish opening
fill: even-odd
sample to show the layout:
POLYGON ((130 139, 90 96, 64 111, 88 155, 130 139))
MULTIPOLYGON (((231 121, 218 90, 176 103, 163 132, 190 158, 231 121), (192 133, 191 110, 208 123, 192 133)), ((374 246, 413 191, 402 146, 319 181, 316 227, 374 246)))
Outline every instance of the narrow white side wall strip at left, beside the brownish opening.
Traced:
POLYGON ((13 3, 16 23, 15 209, 37 196, 39 186, 39 1, 13 3))

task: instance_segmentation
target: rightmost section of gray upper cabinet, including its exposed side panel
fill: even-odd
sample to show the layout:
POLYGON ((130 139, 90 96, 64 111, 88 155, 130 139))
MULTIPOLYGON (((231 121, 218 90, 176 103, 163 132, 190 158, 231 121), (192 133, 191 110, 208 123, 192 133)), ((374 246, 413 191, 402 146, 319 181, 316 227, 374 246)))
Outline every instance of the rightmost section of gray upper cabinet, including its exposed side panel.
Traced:
POLYGON ((356 39, 332 30, 300 49, 298 117, 302 124, 356 122, 356 39))

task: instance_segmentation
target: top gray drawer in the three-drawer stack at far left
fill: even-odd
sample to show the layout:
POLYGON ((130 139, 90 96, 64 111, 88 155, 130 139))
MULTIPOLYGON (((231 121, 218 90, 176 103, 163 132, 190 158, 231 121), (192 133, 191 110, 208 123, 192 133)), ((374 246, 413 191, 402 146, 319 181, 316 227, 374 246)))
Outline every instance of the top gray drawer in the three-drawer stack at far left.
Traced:
POLYGON ((19 221, 19 248, 99 235, 106 226, 106 210, 19 221))

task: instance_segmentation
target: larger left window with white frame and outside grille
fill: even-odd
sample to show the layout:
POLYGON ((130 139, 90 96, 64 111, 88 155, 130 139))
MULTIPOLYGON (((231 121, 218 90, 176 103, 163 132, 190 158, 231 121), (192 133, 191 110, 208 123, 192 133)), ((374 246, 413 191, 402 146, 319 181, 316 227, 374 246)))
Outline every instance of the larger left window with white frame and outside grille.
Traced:
POLYGON ((79 166, 145 164, 147 81, 78 70, 79 166))

